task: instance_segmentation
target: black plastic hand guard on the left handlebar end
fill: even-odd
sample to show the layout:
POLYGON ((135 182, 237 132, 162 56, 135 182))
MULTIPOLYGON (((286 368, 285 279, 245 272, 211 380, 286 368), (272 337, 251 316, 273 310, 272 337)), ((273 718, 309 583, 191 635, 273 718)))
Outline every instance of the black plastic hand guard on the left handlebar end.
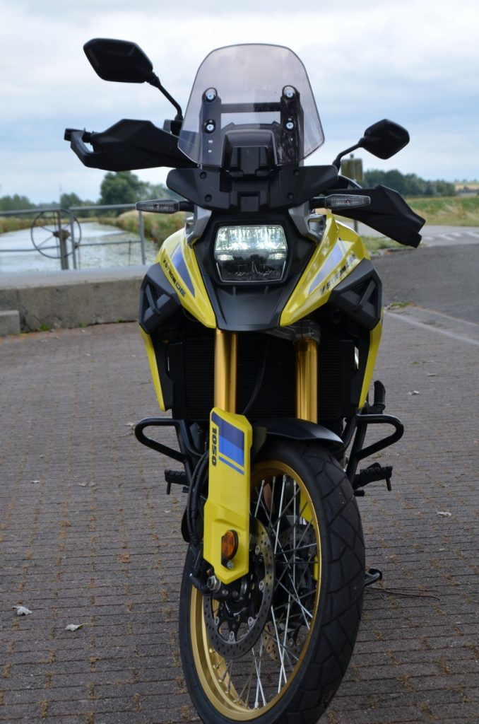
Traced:
POLYGON ((123 119, 98 133, 67 128, 64 140, 70 142, 84 166, 103 171, 196 166, 179 151, 177 136, 151 121, 123 119), (93 146, 93 151, 86 143, 93 146))

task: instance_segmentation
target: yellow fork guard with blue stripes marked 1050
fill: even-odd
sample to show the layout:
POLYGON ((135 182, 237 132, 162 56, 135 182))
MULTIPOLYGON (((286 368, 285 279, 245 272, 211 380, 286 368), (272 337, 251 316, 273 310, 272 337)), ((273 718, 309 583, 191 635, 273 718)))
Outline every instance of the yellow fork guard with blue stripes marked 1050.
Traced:
POLYGON ((250 448, 253 429, 243 415, 213 408, 210 418, 208 500, 205 503, 203 555, 224 584, 249 569, 250 448), (221 562, 221 538, 234 530, 238 550, 226 568, 221 562))

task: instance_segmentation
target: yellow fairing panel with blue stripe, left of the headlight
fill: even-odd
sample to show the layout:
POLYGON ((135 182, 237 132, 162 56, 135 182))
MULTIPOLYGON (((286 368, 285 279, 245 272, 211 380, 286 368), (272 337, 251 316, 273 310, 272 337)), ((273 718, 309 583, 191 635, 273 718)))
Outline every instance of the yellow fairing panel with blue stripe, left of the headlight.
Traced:
POLYGON ((161 264, 182 306, 205 327, 214 329, 216 316, 203 284, 195 251, 187 245, 184 229, 164 240, 156 262, 161 264))

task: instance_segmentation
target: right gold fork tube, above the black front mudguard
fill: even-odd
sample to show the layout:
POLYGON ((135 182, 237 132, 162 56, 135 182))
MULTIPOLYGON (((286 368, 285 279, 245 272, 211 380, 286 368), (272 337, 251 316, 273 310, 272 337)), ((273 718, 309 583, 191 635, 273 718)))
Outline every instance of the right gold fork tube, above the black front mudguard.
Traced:
POLYGON ((318 422, 318 342, 309 337, 294 344, 296 416, 318 422))

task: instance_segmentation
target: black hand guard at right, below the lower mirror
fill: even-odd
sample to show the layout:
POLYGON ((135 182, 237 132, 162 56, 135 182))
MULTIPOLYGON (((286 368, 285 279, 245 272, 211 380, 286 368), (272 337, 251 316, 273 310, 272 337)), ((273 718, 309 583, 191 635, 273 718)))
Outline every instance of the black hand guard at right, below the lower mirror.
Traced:
POLYGON ((421 240, 420 230, 425 219, 412 211, 402 195, 386 186, 376 188, 331 188, 328 193, 348 196, 369 196, 369 206, 342 207, 336 213, 355 219, 404 246, 416 248, 421 240))

